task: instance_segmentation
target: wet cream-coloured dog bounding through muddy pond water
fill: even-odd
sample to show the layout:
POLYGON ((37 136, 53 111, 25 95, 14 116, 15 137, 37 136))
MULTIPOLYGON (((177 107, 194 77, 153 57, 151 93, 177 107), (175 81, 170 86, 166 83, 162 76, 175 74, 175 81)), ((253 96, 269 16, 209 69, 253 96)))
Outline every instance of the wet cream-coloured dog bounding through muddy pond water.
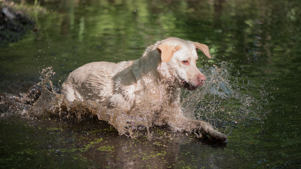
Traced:
POLYGON ((93 100, 151 124, 168 124, 175 131, 198 132, 226 141, 225 134, 205 121, 185 117, 180 106, 181 88, 193 91, 206 80, 196 66, 198 49, 211 58, 208 46, 198 42, 175 37, 157 41, 140 59, 92 62, 77 68, 61 91, 71 102, 93 100))

